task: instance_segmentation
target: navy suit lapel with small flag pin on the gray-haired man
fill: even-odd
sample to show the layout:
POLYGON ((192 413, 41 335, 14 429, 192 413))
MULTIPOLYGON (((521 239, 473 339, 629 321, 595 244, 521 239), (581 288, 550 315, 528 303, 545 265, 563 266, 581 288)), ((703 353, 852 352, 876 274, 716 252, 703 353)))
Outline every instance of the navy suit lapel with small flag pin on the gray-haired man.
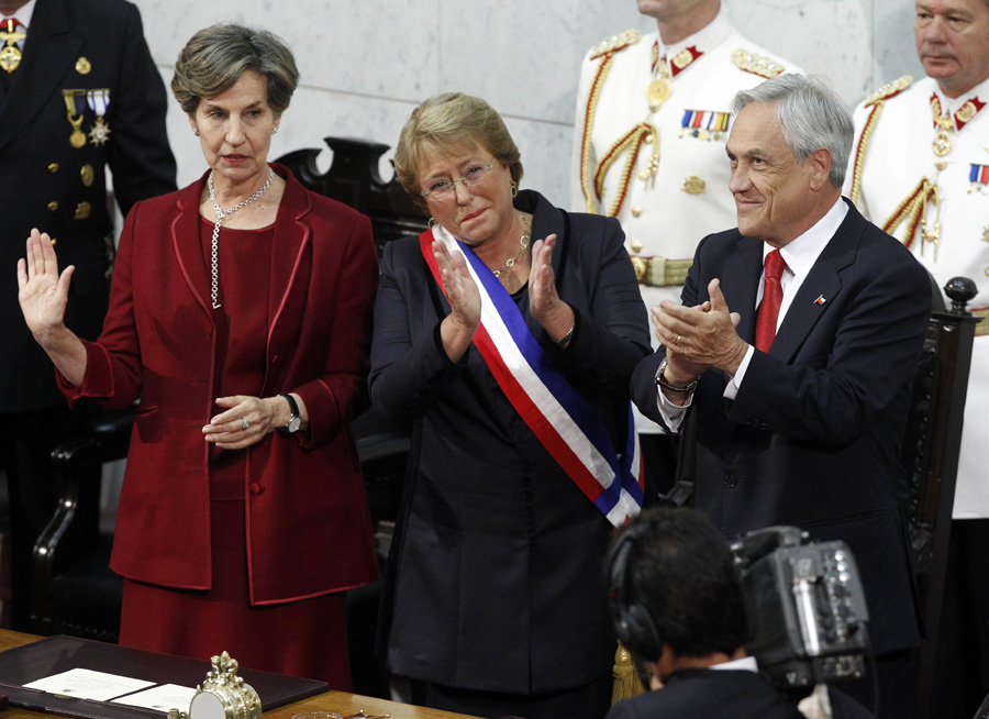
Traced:
POLYGON ((769 349, 771 356, 785 362, 792 360, 818 320, 833 306, 842 290, 841 272, 855 261, 864 226, 863 217, 849 207, 845 220, 793 297, 769 349))

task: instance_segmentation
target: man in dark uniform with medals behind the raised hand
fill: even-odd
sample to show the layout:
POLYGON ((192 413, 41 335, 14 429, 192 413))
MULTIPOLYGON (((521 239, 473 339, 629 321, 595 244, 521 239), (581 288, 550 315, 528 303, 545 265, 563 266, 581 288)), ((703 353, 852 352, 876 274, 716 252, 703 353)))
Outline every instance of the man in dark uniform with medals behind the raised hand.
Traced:
POLYGON ((96 339, 107 311, 113 221, 175 189, 165 86, 137 8, 124 0, 0 0, 0 468, 13 534, 13 624, 26 627, 30 557, 57 497, 48 454, 76 431, 55 372, 18 307, 13 268, 32 228, 75 265, 66 323, 96 339))

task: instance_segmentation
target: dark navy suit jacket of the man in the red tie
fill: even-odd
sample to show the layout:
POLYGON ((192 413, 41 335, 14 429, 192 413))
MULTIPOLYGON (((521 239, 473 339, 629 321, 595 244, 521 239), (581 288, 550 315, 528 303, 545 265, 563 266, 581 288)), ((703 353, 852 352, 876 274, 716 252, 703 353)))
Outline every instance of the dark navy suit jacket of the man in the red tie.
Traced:
MULTIPOLYGON (((705 237, 682 302, 721 278, 738 334, 753 342, 763 241, 730 230, 705 237)), ((733 401, 720 370, 701 377, 694 501, 726 538, 796 524, 844 539, 865 583, 877 652, 920 639, 908 553, 907 476, 900 464, 909 380, 931 310, 926 272, 899 242, 848 214, 790 306, 768 353, 755 352, 733 401)), ((635 370, 648 417, 664 350, 635 370)))

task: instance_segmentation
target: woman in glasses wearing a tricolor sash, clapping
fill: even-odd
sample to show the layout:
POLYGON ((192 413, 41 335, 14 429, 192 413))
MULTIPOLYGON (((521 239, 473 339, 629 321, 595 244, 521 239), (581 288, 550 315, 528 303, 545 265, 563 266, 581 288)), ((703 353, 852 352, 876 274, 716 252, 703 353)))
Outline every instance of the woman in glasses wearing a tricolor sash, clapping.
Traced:
POLYGON ((460 93, 423 102, 396 150, 431 228, 386 245, 375 310, 371 399, 413 428, 382 639, 418 704, 601 717, 601 564, 642 504, 629 380, 648 325, 618 221, 520 191, 519 157, 460 93))

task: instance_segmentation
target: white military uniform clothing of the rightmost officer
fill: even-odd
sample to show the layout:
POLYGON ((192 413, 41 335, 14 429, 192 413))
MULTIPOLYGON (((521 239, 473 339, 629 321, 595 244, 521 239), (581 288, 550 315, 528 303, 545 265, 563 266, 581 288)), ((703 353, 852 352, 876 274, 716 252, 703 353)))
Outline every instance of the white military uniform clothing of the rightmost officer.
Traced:
MULTIPOLYGON (((969 277, 989 307, 989 80, 954 100, 902 77, 855 109, 845 191, 907 244, 938 286, 969 277), (935 122, 935 114, 942 118, 935 122), (865 135, 865 140, 863 140, 865 135), (926 231, 926 232, 925 232, 926 231)), ((954 517, 989 517, 989 318, 976 325, 954 517)))

